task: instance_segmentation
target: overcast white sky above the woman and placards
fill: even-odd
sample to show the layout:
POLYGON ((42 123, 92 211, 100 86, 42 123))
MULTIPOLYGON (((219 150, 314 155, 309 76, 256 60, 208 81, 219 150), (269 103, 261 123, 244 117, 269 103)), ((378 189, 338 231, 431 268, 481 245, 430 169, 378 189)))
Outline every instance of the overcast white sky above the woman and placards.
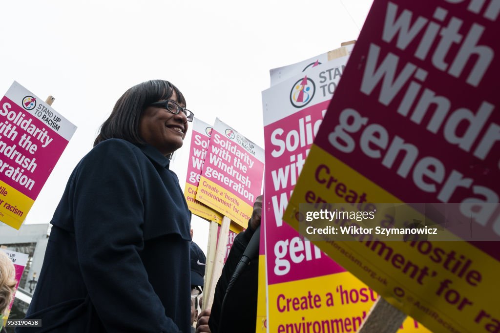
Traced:
MULTIPOLYGON (((0 2, 0 94, 16 80, 78 128, 25 223, 47 223, 99 125, 130 86, 161 78, 196 117, 263 147, 269 69, 356 39, 372 0, 0 2), (352 18, 349 16, 347 11, 352 18), (357 25, 357 26, 356 26, 357 25)), ((171 164, 184 188, 190 130, 171 164)), ((208 223, 193 217, 206 249, 208 223)))

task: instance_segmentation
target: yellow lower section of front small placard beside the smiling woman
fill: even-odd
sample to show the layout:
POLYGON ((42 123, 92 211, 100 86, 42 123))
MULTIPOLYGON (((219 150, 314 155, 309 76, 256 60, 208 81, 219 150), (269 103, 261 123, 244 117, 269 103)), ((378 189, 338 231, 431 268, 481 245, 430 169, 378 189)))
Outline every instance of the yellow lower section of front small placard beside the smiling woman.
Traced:
POLYGON ((248 226, 253 206, 204 176, 199 180, 196 199, 229 217, 241 227, 248 226))

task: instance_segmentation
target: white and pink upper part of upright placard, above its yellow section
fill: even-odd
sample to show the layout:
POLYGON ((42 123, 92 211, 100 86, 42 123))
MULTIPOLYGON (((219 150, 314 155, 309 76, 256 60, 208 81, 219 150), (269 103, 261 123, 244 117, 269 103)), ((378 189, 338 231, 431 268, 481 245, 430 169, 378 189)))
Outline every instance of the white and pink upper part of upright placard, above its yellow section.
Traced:
POLYGON ((306 74, 296 74, 262 92, 264 202, 270 207, 264 213, 269 284, 344 271, 309 241, 302 242, 282 216, 347 59, 309 68, 306 74), (303 244, 300 260, 288 250, 298 242, 303 244))

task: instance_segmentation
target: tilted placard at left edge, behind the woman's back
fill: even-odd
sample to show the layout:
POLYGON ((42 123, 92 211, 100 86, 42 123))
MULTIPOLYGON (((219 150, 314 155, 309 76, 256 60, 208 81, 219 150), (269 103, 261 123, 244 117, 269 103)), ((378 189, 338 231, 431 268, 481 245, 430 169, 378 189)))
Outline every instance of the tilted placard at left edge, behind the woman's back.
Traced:
POLYGON ((0 220, 18 229, 76 126, 12 83, 0 101, 0 220))

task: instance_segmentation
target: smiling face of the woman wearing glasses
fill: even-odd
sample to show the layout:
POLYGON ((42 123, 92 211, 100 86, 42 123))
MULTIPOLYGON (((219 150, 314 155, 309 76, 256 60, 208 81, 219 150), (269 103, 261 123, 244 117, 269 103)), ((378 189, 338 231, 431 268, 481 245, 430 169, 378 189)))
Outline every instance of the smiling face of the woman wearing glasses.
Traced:
MULTIPOLYGON (((175 91, 168 99, 177 100, 175 91)), ((139 119, 139 134, 142 139, 165 156, 182 146, 186 131, 187 118, 183 112, 173 114, 162 107, 148 106, 139 119)))

